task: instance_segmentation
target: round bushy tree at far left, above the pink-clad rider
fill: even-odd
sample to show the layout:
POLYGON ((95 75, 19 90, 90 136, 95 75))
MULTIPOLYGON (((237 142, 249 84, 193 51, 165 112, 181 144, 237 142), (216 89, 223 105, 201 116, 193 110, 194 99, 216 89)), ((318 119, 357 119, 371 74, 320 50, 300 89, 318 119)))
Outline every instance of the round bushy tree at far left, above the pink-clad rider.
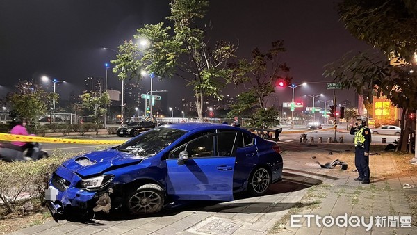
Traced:
POLYGON ((29 81, 21 81, 15 86, 16 92, 10 92, 6 100, 11 104, 11 113, 20 119, 27 119, 31 122, 37 121, 47 113, 47 104, 52 100, 52 94, 29 81))

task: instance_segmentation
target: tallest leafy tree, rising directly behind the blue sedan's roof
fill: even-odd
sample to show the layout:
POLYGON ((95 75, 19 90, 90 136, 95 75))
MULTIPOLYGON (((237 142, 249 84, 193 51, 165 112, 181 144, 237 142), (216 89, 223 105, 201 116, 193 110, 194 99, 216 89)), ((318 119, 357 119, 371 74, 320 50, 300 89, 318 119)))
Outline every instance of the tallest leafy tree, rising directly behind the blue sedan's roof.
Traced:
POLYGON ((120 79, 141 79, 140 70, 163 79, 177 77, 193 88, 195 104, 200 121, 203 121, 204 97, 222 99, 220 94, 229 81, 231 70, 227 60, 234 58, 233 44, 219 40, 209 44, 208 27, 198 23, 206 15, 208 1, 172 0, 171 15, 167 17, 170 26, 147 24, 138 29, 133 37, 147 40, 147 47, 140 49, 133 40, 120 45, 113 72, 119 72, 120 79))

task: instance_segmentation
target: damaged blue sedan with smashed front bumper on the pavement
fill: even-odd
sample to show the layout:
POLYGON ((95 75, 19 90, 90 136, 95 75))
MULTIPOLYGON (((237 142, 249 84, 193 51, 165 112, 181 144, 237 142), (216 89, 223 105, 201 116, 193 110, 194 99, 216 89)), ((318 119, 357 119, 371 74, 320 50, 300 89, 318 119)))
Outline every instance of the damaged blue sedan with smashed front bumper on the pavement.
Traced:
POLYGON ((261 196, 281 180, 275 141, 224 124, 156 127, 110 149, 65 161, 49 180, 47 206, 55 220, 91 218, 98 211, 161 211, 184 200, 261 196))

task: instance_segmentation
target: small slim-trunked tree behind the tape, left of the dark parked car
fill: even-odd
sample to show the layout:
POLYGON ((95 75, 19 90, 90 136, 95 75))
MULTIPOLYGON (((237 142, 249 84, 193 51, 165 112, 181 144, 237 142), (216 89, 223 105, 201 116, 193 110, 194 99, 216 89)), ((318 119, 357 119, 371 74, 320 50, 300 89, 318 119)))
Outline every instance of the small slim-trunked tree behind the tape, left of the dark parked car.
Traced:
MULTIPOLYGON (((108 93, 104 92, 99 94, 99 92, 87 92, 86 90, 83 90, 83 94, 80 95, 80 99, 81 106, 85 108, 85 110, 92 113, 92 120, 98 128, 100 117, 106 114, 106 109, 103 108, 104 104, 108 104, 110 102, 108 93)), ((98 131, 96 131, 96 134, 98 134, 98 131)))

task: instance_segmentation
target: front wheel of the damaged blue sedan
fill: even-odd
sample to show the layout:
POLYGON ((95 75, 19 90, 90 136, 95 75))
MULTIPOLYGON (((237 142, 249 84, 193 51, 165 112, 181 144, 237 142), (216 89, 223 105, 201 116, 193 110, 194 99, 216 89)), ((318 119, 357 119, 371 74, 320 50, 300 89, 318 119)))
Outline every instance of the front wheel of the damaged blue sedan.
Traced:
POLYGON ((129 192, 126 207, 134 215, 161 211, 164 202, 163 189, 157 184, 144 184, 129 192))

